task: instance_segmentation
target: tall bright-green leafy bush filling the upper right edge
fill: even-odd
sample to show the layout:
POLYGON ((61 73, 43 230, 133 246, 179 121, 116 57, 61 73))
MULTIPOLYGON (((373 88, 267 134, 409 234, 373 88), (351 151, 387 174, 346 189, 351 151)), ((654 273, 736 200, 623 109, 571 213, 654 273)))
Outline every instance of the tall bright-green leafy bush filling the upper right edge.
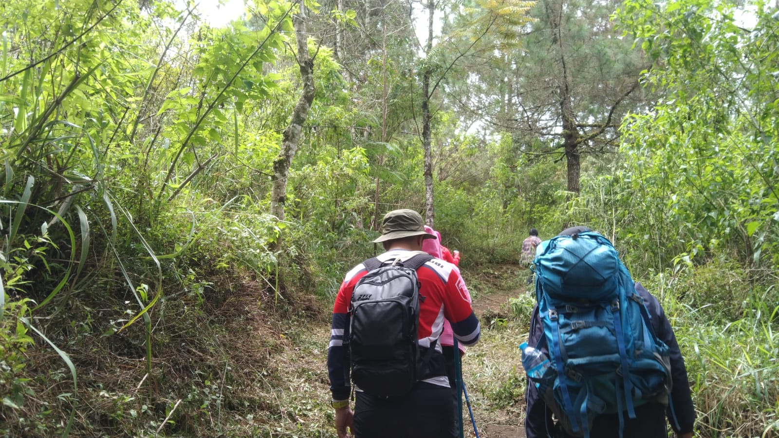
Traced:
POLYGON ((779 82, 768 73, 777 21, 758 3, 749 31, 736 12, 707 0, 626 2, 618 12, 647 55, 667 65, 645 80, 668 97, 623 125, 626 195, 642 194, 653 228, 674 230, 656 239, 673 245, 671 253, 727 251, 742 263, 776 266, 779 82))

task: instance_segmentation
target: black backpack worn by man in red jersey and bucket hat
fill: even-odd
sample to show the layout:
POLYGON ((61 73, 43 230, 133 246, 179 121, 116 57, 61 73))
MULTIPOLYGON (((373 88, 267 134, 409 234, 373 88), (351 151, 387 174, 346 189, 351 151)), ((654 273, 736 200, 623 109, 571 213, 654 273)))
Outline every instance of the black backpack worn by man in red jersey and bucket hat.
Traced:
POLYGON ((346 351, 351 359, 351 378, 365 394, 407 394, 421 377, 424 358, 417 334, 417 270, 428 260, 432 260, 429 254, 418 254, 405 262, 386 264, 372 258, 363 263, 368 274, 357 282, 351 295, 346 351))

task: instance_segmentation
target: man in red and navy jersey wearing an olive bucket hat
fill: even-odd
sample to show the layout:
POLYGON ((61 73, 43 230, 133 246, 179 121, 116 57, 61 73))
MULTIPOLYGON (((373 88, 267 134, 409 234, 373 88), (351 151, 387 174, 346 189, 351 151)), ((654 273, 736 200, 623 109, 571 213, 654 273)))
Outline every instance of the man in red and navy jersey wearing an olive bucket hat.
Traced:
MULTIPOLYGON (((332 333, 327 355, 330 390, 333 408, 336 408, 336 429, 339 438, 347 436, 351 429, 355 438, 382 438, 405 436, 408 438, 450 438, 453 437, 452 394, 446 366, 442 355, 439 337, 444 319, 452 323, 455 337, 461 344, 473 345, 479 338, 479 322, 467 299, 467 288, 460 273, 453 265, 439 258, 431 257, 422 251, 425 239, 436 238, 425 231, 425 223, 414 210, 393 210, 384 216, 382 235, 373 242, 381 243, 385 253, 366 260, 354 267, 346 275, 336 296, 333 306, 332 333), (408 363, 409 369, 416 369, 413 375, 416 383, 403 394, 377 396, 368 390, 371 382, 355 384, 356 401, 354 412, 350 409, 349 394, 352 385, 351 376, 357 382, 358 368, 354 365, 354 342, 364 336, 358 330, 367 330, 357 323, 354 309, 355 300, 360 293, 354 294, 355 286, 362 288, 363 277, 389 275, 390 267, 400 265, 413 267, 416 260, 423 260, 415 270, 418 288, 418 325, 415 339, 418 345, 418 362, 421 366, 408 363), (378 262, 379 267, 375 264, 378 262), (368 266, 374 267, 373 269, 368 266), (350 319, 354 319, 350 321, 350 319), (354 333, 350 333, 353 330, 354 333), (359 336, 356 336, 359 335, 359 336), (350 347, 351 345, 351 347, 350 347), (363 385, 361 390, 359 387, 363 385)), ((414 271, 411 271, 414 272, 414 271)), ((366 277, 366 278, 368 278, 366 277)), ((362 289, 360 289, 362 290, 362 289)), ((374 297, 376 295, 373 295, 374 297)), ((358 305, 367 301, 358 302, 358 305)), ((377 311, 378 312, 378 311, 377 311)), ((386 315, 383 314, 383 315, 386 315)), ((382 320, 384 327, 391 327, 393 321, 382 320)), ((388 329, 389 330, 389 329, 388 329)), ((378 377, 381 380, 383 377, 378 377)))

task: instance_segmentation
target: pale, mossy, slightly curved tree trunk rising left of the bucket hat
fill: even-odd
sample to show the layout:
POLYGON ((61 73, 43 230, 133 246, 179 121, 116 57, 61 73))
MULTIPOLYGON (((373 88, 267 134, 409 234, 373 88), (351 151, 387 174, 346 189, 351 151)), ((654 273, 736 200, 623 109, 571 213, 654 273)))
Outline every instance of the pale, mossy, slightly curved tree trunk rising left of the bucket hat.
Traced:
POLYGON ((294 30, 298 41, 298 65, 303 82, 298 103, 292 111, 292 118, 287 129, 284 129, 284 137, 281 141, 281 150, 273 161, 273 188, 270 192, 270 214, 284 221, 284 203, 287 200, 287 174, 292 164, 295 152, 298 151, 301 132, 308 110, 314 101, 314 61, 308 55, 308 34, 305 30, 305 5, 300 4, 300 12, 292 18, 294 30))

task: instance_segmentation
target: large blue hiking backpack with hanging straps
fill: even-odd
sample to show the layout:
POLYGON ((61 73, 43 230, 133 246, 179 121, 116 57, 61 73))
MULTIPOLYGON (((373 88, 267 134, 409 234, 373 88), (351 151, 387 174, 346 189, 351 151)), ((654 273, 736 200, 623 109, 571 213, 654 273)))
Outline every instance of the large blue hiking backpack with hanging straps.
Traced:
POLYGON ((668 405, 668 346, 612 242, 594 231, 559 235, 538 245, 534 263, 554 370, 539 391, 566 433, 589 438, 595 416, 617 414, 622 436, 624 412, 635 419, 641 404, 668 405))

